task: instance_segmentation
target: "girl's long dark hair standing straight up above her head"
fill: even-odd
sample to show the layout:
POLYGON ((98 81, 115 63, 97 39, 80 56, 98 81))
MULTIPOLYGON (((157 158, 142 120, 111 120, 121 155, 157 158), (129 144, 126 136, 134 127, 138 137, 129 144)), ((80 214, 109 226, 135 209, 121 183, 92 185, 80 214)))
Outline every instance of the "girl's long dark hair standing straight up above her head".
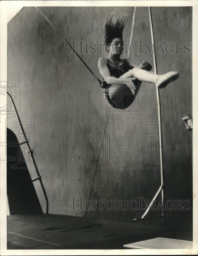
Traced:
MULTIPOLYGON (((114 11, 115 12, 115 11, 114 11)), ((109 13, 104 22, 104 43, 111 44, 114 38, 122 39, 122 32, 125 26, 125 18, 122 16, 117 20, 114 19, 114 12, 109 13)))

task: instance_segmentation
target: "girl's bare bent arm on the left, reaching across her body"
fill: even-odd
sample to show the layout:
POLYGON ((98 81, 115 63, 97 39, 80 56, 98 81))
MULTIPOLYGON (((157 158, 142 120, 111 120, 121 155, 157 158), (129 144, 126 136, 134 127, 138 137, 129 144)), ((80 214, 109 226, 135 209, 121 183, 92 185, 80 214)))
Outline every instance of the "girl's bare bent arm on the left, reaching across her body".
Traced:
MULTIPOLYGON (((112 84, 112 83, 121 83, 123 82, 123 78, 116 78, 116 77, 111 77, 109 69, 107 67, 107 59, 101 57, 98 60, 98 68, 100 70, 101 75, 103 76, 104 80, 106 83, 108 84, 112 84)), ((125 81, 127 82, 131 82, 132 80, 134 80, 133 78, 125 78, 125 81)))

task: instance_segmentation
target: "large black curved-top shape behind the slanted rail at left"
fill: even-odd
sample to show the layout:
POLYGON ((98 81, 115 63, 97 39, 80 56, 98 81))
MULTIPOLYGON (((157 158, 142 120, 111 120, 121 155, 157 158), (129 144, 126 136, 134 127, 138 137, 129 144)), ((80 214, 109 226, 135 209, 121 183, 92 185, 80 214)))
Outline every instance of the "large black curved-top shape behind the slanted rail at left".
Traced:
POLYGON ((10 215, 43 213, 18 139, 8 128, 7 198, 10 215))

